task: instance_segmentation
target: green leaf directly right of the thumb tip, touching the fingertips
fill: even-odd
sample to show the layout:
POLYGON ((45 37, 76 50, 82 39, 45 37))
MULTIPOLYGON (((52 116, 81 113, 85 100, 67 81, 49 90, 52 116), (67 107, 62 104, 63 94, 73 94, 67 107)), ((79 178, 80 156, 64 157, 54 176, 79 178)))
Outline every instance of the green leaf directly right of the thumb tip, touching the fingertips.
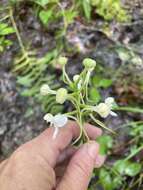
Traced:
POLYGON ((100 154, 106 155, 108 150, 113 146, 113 139, 109 135, 103 135, 97 138, 97 142, 100 144, 100 154))

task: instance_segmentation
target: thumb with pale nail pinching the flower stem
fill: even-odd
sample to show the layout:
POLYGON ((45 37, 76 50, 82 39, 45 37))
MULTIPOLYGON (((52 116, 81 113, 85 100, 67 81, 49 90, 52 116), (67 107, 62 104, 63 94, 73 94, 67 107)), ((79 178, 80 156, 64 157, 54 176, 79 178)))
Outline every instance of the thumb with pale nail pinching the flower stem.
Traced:
POLYGON ((99 145, 96 142, 84 144, 71 159, 57 190, 86 190, 98 151, 99 145))

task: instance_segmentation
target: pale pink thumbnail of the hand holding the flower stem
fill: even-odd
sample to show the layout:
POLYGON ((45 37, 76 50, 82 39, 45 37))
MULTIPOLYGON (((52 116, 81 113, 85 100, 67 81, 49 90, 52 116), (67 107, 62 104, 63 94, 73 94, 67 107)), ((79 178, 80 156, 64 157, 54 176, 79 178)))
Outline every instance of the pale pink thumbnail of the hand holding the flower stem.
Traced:
POLYGON ((91 156, 94 160, 96 160, 98 151, 99 151, 99 144, 96 142, 90 142, 88 144, 88 154, 89 156, 91 156))

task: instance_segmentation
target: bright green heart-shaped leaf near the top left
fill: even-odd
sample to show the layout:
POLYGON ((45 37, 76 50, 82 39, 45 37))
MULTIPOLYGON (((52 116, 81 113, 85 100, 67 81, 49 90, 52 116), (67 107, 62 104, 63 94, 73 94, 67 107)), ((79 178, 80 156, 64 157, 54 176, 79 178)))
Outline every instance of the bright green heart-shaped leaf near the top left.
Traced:
POLYGON ((48 10, 48 11, 40 11, 39 13, 39 17, 40 17, 40 20, 42 21, 42 23, 45 25, 45 24, 48 24, 50 18, 52 17, 52 14, 53 14, 53 11, 52 10, 48 10))

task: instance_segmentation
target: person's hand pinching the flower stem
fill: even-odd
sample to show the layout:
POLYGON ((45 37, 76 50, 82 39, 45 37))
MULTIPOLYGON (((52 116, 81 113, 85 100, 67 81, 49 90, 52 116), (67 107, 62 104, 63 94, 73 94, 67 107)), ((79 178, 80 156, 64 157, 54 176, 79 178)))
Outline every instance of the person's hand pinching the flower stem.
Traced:
POLYGON ((102 131, 90 124, 85 129, 91 139, 78 148, 70 144, 79 135, 75 122, 60 129, 55 140, 53 128, 19 147, 0 164, 1 190, 86 190, 95 167, 105 158, 94 141, 102 131))

